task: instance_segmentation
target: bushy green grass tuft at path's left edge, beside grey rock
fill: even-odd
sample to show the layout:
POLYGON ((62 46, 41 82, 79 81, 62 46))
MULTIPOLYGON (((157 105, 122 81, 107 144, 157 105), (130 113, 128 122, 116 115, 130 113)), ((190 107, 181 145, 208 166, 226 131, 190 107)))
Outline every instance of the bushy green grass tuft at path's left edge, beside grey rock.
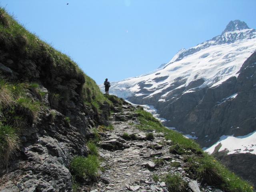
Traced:
POLYGON ((100 163, 95 155, 74 156, 70 162, 70 170, 76 178, 94 180, 99 168, 100 163))

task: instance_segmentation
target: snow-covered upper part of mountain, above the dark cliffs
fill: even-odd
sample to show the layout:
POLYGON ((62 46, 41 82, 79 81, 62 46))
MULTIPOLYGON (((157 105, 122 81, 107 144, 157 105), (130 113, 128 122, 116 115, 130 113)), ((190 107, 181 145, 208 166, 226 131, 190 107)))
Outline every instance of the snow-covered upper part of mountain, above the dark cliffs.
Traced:
MULTIPOLYGON (((256 51, 256 30, 239 20, 231 21, 221 35, 192 47, 181 49, 159 70, 140 77, 112 82, 111 93, 122 98, 158 95, 164 102, 169 92, 197 82, 198 88, 217 86, 236 76, 243 62, 256 51), (179 82, 179 83, 177 83, 179 82)), ((185 93, 185 92, 184 92, 185 93)))

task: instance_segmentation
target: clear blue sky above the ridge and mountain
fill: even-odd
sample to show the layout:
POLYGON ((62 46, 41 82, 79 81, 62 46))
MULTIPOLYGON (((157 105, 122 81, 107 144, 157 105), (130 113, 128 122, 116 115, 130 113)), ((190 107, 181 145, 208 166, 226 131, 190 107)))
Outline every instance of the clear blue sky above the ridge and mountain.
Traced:
POLYGON ((98 84, 152 71, 181 48, 221 34, 230 20, 256 28, 256 0, 0 0, 0 5, 98 84))

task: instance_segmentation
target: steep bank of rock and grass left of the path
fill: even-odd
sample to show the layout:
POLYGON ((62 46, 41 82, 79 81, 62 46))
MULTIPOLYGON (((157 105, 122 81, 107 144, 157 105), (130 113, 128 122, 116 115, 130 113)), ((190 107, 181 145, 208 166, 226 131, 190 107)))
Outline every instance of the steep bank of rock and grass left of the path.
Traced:
POLYGON ((110 104, 72 60, 0 8, 1 191, 72 191, 70 160, 88 155, 110 104))

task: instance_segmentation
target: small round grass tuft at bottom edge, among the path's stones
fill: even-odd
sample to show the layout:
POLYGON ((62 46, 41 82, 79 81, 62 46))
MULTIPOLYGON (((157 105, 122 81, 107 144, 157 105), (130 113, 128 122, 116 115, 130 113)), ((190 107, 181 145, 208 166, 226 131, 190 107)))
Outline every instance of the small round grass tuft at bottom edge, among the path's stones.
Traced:
POLYGON ((167 174, 164 178, 168 191, 186 192, 188 184, 179 174, 167 174))

